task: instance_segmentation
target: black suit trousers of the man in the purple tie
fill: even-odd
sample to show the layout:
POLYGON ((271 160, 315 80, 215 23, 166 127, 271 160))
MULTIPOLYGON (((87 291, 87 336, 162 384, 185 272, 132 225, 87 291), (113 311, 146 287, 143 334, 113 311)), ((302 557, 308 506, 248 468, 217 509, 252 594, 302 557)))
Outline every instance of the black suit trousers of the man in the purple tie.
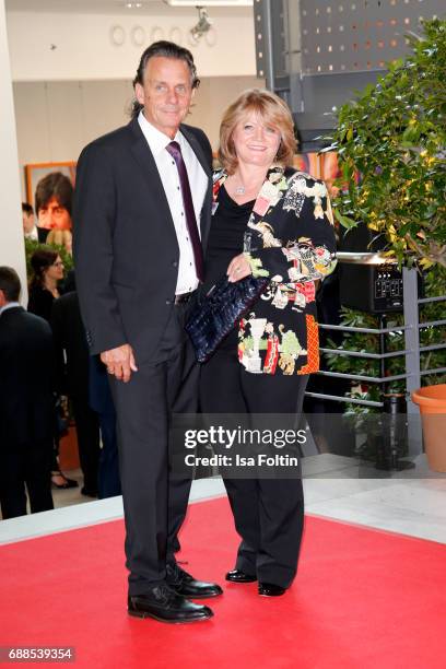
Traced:
POLYGON ((129 383, 111 378, 126 521, 129 595, 165 579, 175 562, 190 478, 169 476, 168 429, 173 413, 195 413, 198 365, 184 331, 187 305, 173 307, 156 360, 139 364, 129 383))

